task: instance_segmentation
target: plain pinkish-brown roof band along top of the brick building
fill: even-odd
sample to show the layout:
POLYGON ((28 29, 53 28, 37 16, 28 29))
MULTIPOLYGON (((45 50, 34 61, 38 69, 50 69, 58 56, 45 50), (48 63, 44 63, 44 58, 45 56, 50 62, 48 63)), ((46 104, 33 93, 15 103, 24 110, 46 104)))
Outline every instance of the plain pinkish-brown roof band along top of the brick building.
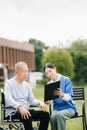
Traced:
POLYGON ((18 42, 0 37, 0 46, 34 52, 34 45, 26 42, 18 42))

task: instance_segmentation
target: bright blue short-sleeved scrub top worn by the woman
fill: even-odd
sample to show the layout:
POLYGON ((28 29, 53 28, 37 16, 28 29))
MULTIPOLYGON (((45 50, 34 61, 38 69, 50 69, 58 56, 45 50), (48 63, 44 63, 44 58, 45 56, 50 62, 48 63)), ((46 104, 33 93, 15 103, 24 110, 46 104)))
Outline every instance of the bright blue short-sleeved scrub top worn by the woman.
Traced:
MULTIPOLYGON (((71 82, 70 78, 61 75, 59 80, 60 80, 60 89, 62 90, 62 92, 64 94, 69 94, 70 96, 72 96, 73 91, 72 91, 72 82, 71 82)), ((50 82, 53 82, 53 81, 50 80, 48 83, 50 83, 50 82)), ((54 108, 54 110, 59 110, 59 111, 64 110, 64 109, 68 109, 68 110, 73 109, 73 110, 77 111, 76 104, 72 100, 72 98, 69 101, 64 101, 62 99, 62 97, 54 99, 53 108, 54 108)))

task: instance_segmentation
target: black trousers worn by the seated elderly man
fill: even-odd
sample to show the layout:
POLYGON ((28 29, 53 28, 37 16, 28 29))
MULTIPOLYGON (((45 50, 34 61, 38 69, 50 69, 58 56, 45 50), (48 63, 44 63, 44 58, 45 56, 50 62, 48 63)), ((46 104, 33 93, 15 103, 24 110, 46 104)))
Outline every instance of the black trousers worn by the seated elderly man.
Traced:
POLYGON ((32 120, 39 120, 39 130, 48 130, 49 125, 49 113, 43 111, 36 111, 36 110, 29 110, 31 113, 31 117, 28 119, 22 119, 21 114, 17 112, 15 115, 12 116, 13 119, 20 119, 23 123, 25 130, 33 130, 32 120))

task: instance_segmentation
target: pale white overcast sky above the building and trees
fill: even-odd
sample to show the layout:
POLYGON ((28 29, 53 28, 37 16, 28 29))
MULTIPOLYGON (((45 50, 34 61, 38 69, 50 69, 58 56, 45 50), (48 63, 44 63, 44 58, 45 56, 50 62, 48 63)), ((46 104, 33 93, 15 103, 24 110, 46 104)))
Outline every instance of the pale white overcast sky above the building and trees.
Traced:
POLYGON ((49 46, 87 39, 87 0, 0 0, 0 37, 49 46))

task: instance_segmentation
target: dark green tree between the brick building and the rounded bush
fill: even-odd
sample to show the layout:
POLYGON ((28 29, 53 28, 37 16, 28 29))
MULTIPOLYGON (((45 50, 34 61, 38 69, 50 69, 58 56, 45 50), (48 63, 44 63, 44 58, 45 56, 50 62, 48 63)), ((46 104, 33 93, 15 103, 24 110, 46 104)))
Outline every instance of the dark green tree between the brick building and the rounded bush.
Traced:
POLYGON ((43 52, 48 48, 48 46, 45 46, 45 43, 43 43, 40 40, 36 40, 36 39, 30 39, 29 43, 31 43, 35 46, 36 71, 41 71, 42 70, 41 59, 42 59, 42 56, 43 56, 43 52))

